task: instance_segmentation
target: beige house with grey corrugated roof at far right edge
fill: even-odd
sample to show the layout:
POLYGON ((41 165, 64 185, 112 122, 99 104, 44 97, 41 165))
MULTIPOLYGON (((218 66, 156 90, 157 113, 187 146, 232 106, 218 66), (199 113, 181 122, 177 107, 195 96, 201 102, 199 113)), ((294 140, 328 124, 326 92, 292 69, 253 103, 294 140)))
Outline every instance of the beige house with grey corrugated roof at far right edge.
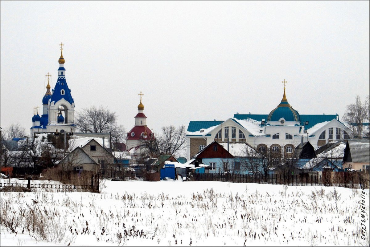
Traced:
POLYGON ((370 168, 370 141, 347 140, 344 149, 343 168, 369 173, 370 168))

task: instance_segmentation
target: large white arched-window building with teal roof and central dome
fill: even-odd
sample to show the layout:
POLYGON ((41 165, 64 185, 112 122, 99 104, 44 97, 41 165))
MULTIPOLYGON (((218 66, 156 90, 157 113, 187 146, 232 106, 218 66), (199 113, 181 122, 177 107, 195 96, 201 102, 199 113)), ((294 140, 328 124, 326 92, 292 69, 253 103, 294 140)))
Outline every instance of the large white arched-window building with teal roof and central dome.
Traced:
POLYGON ((350 139, 347 128, 334 115, 300 115, 285 95, 270 114, 235 114, 225 121, 190 121, 188 159, 209 143, 248 143, 259 150, 280 148, 293 152, 301 141, 316 149, 332 140, 350 139))

